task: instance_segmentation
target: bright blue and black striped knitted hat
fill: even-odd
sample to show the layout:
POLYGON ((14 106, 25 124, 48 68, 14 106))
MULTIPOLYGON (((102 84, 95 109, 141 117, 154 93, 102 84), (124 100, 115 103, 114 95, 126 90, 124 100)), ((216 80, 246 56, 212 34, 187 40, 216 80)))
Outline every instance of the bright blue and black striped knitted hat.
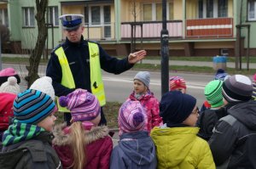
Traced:
POLYGON ((14 102, 15 118, 21 123, 38 124, 55 111, 55 102, 38 90, 27 89, 14 102))

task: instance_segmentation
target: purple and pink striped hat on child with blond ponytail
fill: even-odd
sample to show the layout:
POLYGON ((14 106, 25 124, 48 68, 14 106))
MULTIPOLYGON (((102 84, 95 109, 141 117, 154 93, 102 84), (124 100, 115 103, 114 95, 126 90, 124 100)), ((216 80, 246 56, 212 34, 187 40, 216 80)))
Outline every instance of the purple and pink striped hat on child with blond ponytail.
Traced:
POLYGON ((61 96, 59 99, 62 107, 71 111, 73 121, 91 121, 101 112, 98 99, 84 89, 76 89, 73 93, 61 96))

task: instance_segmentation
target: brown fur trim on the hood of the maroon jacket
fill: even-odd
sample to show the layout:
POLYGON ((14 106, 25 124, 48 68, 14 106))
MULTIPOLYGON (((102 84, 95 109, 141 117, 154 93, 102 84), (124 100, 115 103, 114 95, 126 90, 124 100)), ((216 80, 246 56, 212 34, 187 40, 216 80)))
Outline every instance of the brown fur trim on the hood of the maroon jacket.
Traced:
MULTIPOLYGON (((53 139, 53 143, 55 145, 69 145, 71 144, 71 138, 69 133, 65 133, 63 130, 67 127, 67 124, 59 124, 54 127, 53 134, 55 138, 53 139)), ((109 129, 107 126, 102 127, 91 127, 90 130, 84 130, 85 143, 90 144, 97 139, 105 138, 108 136, 109 129)))

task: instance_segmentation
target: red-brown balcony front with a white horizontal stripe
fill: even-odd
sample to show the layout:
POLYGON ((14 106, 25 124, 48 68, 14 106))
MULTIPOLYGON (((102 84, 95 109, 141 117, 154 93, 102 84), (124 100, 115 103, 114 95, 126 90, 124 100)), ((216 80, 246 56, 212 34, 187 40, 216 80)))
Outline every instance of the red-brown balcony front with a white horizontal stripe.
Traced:
POLYGON ((187 38, 233 37, 233 18, 186 20, 187 38))

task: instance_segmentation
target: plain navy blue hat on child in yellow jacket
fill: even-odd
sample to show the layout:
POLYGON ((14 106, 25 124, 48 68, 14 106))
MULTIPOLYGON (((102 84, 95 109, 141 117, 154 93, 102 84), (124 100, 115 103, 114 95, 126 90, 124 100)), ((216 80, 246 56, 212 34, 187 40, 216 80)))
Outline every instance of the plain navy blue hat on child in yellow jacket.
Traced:
POLYGON ((180 91, 165 93, 160 101, 160 116, 164 123, 180 124, 195 108, 196 99, 180 91))

